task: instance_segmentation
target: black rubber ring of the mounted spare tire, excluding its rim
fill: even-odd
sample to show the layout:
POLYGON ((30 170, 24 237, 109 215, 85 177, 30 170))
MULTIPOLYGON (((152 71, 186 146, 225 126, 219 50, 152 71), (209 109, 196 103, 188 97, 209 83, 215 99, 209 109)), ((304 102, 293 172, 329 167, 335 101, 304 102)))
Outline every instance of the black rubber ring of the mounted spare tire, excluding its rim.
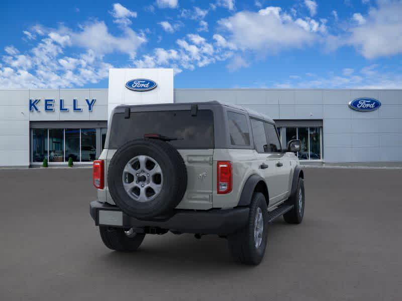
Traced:
POLYGON ((157 139, 136 139, 122 145, 113 156, 108 169, 109 192, 120 209, 135 218, 167 217, 178 205, 187 188, 187 169, 183 158, 170 144, 157 139), (147 202, 131 198, 123 187, 123 170, 136 156, 156 160, 163 172, 159 194, 147 202))

